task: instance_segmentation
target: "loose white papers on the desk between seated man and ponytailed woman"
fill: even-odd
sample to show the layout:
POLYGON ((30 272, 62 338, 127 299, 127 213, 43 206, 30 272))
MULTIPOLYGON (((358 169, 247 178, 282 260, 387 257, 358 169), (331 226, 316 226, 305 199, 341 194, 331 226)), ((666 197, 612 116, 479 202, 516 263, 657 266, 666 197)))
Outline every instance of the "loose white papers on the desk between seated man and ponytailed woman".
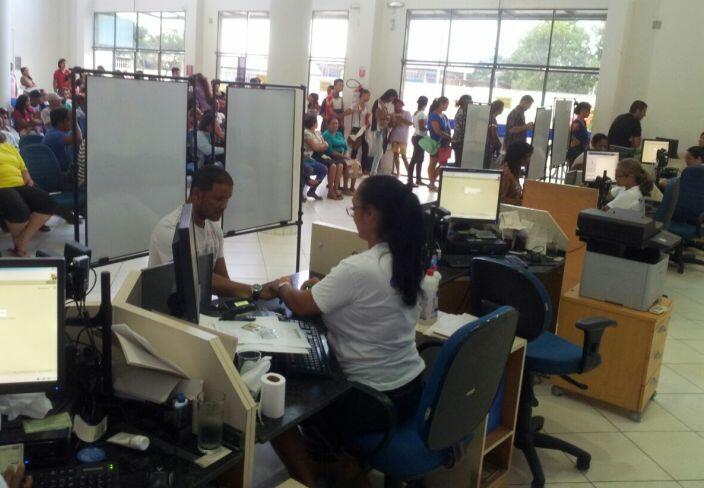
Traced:
POLYGON ((201 316, 200 325, 236 337, 239 348, 289 354, 308 354, 310 349, 297 322, 282 322, 276 316, 256 317, 254 321, 201 316))

